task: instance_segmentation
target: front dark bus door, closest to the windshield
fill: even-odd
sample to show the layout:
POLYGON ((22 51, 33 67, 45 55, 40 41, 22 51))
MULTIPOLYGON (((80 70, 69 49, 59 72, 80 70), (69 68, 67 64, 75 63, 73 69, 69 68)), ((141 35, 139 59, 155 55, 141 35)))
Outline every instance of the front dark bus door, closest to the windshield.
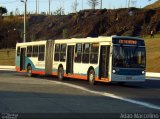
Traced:
POLYGON ((100 60, 99 60, 99 79, 108 77, 109 53, 110 53, 110 46, 102 45, 100 50, 100 60))

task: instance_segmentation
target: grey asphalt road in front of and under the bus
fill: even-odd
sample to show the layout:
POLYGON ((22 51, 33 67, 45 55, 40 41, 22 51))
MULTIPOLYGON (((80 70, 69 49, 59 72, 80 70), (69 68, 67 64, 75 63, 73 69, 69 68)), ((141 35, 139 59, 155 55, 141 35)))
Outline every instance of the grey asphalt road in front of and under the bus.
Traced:
POLYGON ((10 113, 18 116, 31 113, 40 117, 43 113, 45 118, 55 113, 76 118, 155 113, 160 118, 160 80, 90 86, 87 81, 68 79, 60 82, 55 77, 30 78, 25 73, 0 71, 0 113, 1 118, 10 113))

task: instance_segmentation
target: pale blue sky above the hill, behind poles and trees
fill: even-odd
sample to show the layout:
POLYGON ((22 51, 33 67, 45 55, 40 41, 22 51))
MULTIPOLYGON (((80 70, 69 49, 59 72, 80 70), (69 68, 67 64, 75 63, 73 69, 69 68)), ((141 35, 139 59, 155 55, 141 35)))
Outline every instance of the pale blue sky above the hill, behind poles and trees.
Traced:
MULTIPOLYGON (((49 11, 49 0, 39 0, 39 13, 48 12, 49 11)), ((51 12, 56 11, 58 8, 63 7, 65 14, 73 12, 72 4, 75 0, 51 0, 51 12)), ((102 0, 103 6, 102 8, 106 9, 116 9, 116 8, 126 8, 128 7, 127 1, 129 0, 102 0)), ((152 4, 157 0, 132 0, 134 5, 138 8, 142 8, 146 5, 152 4)), ((91 7, 88 5, 88 0, 77 0, 78 8, 77 11, 82 9, 90 9, 91 7), (83 3, 83 4, 82 4, 83 3)), ((21 0, 0 0, 0 6, 6 7, 8 13, 15 11, 20 14, 24 11, 24 3, 21 0)), ((100 8, 100 5, 96 7, 100 8)), ((36 11, 36 0, 27 0, 27 11, 35 12, 36 11)))

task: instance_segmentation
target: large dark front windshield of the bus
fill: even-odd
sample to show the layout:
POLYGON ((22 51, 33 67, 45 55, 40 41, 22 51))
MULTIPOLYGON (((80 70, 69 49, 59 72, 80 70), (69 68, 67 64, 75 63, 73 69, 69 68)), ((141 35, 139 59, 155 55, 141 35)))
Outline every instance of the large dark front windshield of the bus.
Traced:
POLYGON ((145 48, 137 46, 113 46, 113 67, 145 68, 145 48))

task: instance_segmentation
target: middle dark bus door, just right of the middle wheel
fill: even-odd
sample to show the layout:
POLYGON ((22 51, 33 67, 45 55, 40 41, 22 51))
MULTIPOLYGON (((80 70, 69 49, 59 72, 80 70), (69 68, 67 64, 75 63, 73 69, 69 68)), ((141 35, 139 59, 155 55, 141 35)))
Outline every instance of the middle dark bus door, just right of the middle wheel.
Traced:
POLYGON ((67 62, 66 62, 67 74, 73 74, 73 61, 74 61, 74 45, 68 45, 67 62))

